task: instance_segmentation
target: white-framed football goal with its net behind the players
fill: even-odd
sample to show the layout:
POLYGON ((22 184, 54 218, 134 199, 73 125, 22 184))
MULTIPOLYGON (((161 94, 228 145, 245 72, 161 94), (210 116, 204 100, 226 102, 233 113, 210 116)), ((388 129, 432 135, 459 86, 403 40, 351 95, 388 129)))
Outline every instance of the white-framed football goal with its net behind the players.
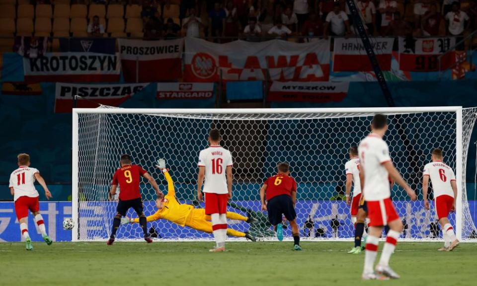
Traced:
MULTIPOLYGON (((405 180, 416 190, 411 202, 395 185, 392 199, 404 224, 403 238, 440 239, 435 210, 422 202, 423 166, 433 148, 444 150, 445 162, 456 171, 459 185, 457 212, 451 223, 462 239, 476 234, 475 201, 466 193, 466 162, 476 109, 368 108, 368 109, 248 109, 154 110, 75 109, 73 114, 73 240, 108 238, 116 202, 108 201, 114 171, 121 154, 144 167, 166 193, 166 181, 155 167, 165 158, 182 204, 204 208, 196 200, 199 151, 207 147, 211 128, 223 135, 222 145, 234 157, 233 199, 229 211, 251 216, 254 223, 229 219, 229 227, 250 231, 258 238, 274 236, 266 214, 260 211, 259 189, 275 174, 278 162, 291 165, 298 183, 297 222, 305 238, 350 239, 354 229, 344 200, 348 149, 369 133, 372 116, 389 116, 385 136, 392 159, 405 180), (474 219, 473 219, 474 218, 474 219)), ((146 180, 141 183, 145 214, 154 214, 156 195, 146 180)), ((432 199, 432 186, 430 188, 432 199)), ((474 199, 475 200, 475 199, 474 199)), ((128 216, 136 217, 131 209, 128 216)), ((285 222, 286 225, 286 222, 285 222)), ((148 223, 153 236, 172 240, 212 239, 209 233, 159 219, 148 223)), ((285 230, 291 236, 291 229, 285 230)), ((118 239, 140 239, 138 224, 121 225, 118 239)), ((229 237, 231 238, 231 237, 229 237)))

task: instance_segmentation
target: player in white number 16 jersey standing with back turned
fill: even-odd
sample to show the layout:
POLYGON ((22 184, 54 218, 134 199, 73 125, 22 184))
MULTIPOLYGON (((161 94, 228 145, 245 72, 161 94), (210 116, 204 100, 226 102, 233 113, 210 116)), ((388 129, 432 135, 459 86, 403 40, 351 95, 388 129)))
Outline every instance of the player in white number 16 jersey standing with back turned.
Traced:
POLYGON ((211 216, 212 233, 216 247, 211 252, 225 251, 227 238, 227 202, 232 198, 232 154, 219 145, 220 131, 209 132, 210 147, 200 151, 197 197, 202 201, 202 184, 205 178, 205 213, 211 216))

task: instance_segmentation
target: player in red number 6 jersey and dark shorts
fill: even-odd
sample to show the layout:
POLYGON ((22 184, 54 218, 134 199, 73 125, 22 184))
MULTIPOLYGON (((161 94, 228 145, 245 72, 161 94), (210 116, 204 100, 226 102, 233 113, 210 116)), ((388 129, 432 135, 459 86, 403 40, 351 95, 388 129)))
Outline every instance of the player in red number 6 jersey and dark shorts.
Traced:
POLYGON ((297 182, 290 176, 288 163, 278 164, 278 173, 268 178, 260 189, 262 211, 268 212, 268 221, 275 227, 278 240, 283 240, 282 214, 290 221, 294 240, 294 249, 300 247, 300 232, 296 221, 297 182), (266 201, 265 201, 266 195, 266 201))

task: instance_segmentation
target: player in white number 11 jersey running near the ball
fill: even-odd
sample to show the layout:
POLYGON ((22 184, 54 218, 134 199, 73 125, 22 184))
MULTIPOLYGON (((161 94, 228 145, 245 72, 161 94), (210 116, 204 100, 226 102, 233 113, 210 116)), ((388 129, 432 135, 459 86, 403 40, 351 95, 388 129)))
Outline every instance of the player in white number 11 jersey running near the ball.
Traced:
POLYGON ((37 180, 45 190, 45 196, 48 200, 52 196, 46 186, 45 180, 40 176, 40 172, 30 167, 30 156, 22 153, 19 154, 17 158, 18 169, 14 170, 10 175, 9 188, 15 202, 15 213, 20 223, 21 234, 26 241, 26 250, 33 250, 30 235, 28 234, 28 210, 34 215, 35 222, 41 231, 43 240, 45 240, 48 245, 53 242, 46 233, 45 223, 40 214, 40 202, 38 200, 40 195, 35 189, 35 180, 37 180))

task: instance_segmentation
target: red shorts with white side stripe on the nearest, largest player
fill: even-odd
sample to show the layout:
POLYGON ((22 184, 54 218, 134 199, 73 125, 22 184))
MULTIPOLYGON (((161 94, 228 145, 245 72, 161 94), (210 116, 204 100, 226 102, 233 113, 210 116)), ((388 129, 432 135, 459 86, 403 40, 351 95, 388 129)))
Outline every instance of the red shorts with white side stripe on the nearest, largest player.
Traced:
POLYGON ((396 212, 393 201, 387 198, 379 201, 367 201, 368 205, 368 226, 385 226, 390 221, 399 218, 396 212))

